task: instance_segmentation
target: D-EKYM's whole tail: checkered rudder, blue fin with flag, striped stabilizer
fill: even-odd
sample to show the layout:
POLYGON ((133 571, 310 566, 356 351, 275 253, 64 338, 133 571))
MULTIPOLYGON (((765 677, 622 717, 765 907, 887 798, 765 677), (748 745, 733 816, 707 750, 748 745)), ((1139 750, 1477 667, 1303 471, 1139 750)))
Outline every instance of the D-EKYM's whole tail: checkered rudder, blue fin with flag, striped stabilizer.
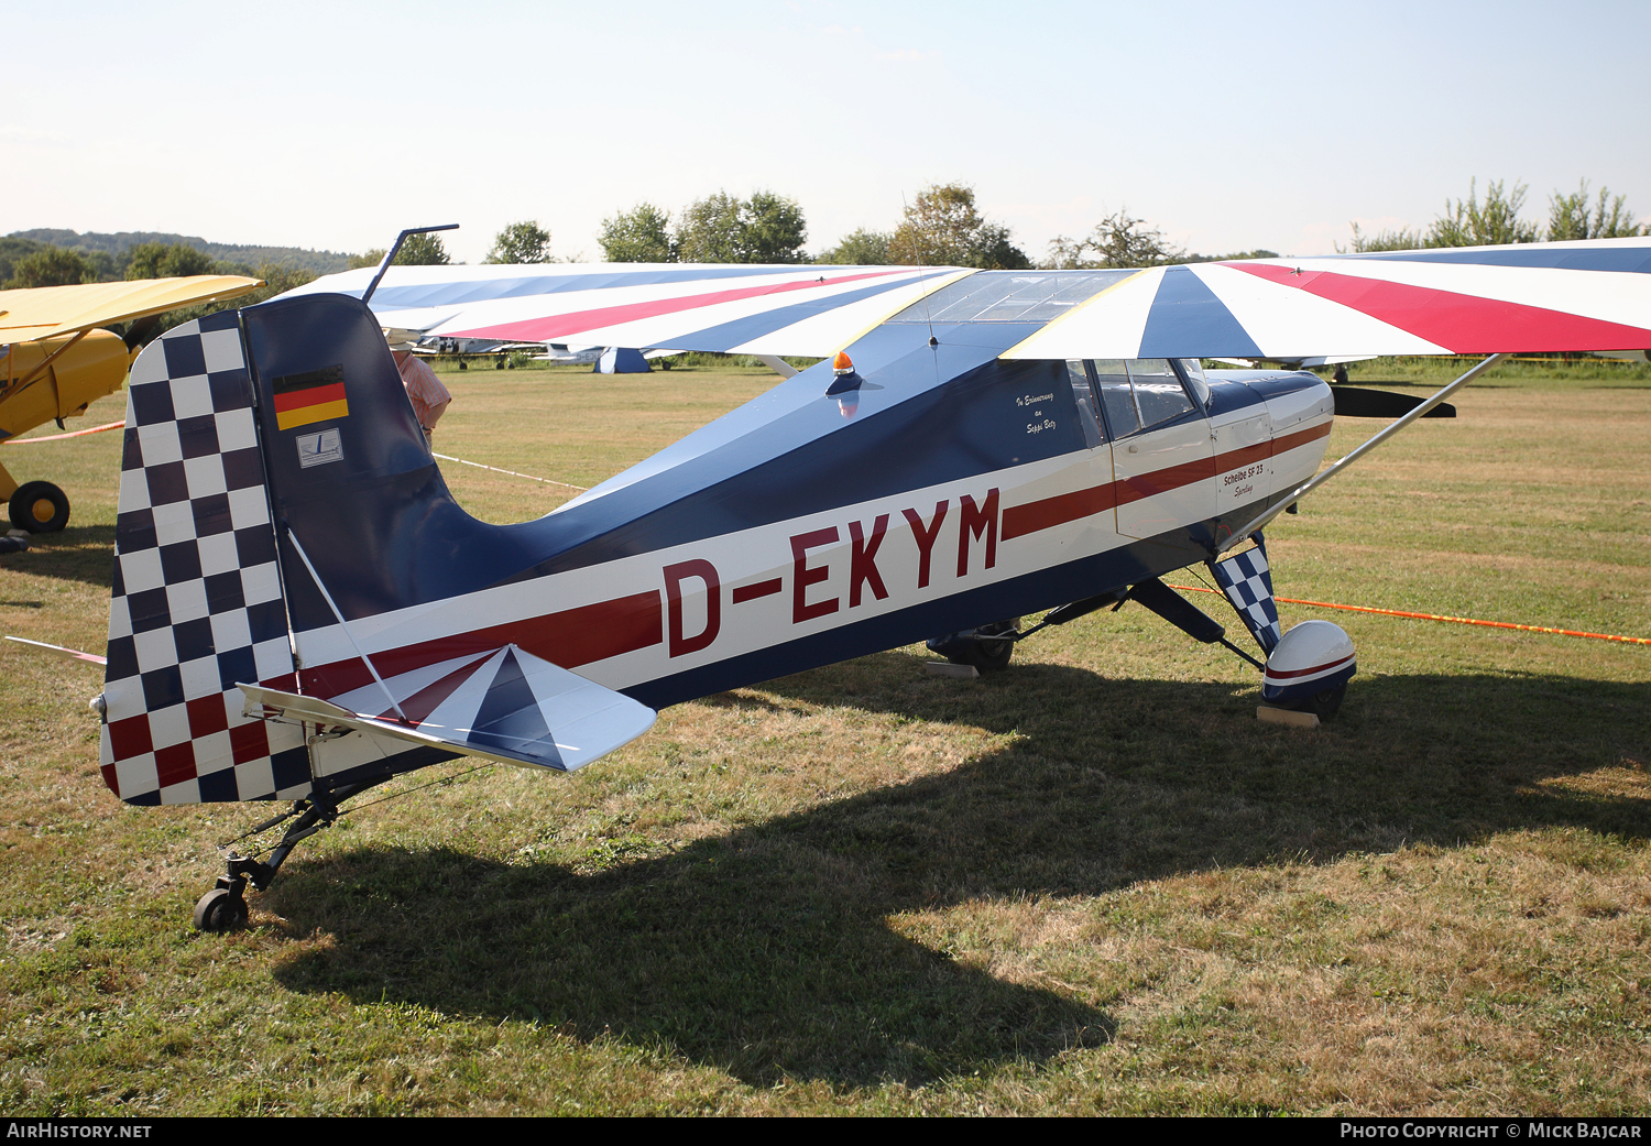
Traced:
POLYGON ((485 616, 464 649, 418 647, 383 674, 352 631, 510 578, 543 535, 452 500, 358 301, 167 332, 127 401, 106 783, 134 804, 297 799, 459 753, 570 770, 617 748, 654 712, 485 616), (267 718, 243 715, 254 698, 267 718), (358 735, 305 738, 305 722, 358 735))

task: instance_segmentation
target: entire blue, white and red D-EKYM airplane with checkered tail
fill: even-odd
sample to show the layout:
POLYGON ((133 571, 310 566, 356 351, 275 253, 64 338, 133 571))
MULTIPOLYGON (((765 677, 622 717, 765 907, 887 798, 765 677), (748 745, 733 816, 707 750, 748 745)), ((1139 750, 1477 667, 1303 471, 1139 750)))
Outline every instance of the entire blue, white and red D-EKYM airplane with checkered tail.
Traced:
POLYGON ((1256 641, 1263 695, 1327 717, 1352 646, 1280 631, 1260 530, 1317 474, 1331 390, 1200 360, 1651 345, 1651 239, 1144 271, 390 268, 368 307, 370 276, 187 324, 132 370, 104 779, 132 804, 299 801, 200 926, 244 920, 246 882, 342 801, 454 755, 575 768, 664 705, 920 639, 1002 667, 1045 609, 1138 601, 1227 644, 1161 580, 1189 565, 1256 641), (447 492, 385 327, 824 362, 495 527, 447 492))

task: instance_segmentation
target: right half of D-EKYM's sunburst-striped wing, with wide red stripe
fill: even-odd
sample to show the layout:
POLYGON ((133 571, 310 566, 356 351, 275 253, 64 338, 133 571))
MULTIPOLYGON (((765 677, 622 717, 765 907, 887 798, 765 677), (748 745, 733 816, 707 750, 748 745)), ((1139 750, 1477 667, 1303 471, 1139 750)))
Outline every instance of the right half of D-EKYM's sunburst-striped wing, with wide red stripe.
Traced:
POLYGON ((1096 294, 1005 358, 1651 347, 1651 238, 1200 263, 1096 294))

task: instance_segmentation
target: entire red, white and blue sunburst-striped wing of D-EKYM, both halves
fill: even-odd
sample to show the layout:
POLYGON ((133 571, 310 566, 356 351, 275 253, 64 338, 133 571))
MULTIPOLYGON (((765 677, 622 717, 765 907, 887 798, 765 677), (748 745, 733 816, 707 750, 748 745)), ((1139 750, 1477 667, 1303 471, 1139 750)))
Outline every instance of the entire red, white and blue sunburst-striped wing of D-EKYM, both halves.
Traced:
MULTIPOLYGON (((360 294, 371 269, 297 292, 360 294)), ((1093 272, 890 266, 391 268, 371 299, 426 337, 827 357, 966 276, 1062 294, 1005 358, 1306 358, 1651 347, 1651 238, 1093 272), (1058 314, 1053 314, 1058 312, 1058 314)), ((991 319, 974 319, 991 320, 991 319)))

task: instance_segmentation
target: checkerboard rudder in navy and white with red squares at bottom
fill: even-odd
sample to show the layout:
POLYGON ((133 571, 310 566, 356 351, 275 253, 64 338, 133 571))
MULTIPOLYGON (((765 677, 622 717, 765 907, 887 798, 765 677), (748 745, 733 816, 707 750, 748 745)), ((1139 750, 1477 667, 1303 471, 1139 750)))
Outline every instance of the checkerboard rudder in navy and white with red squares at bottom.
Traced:
POLYGON ((234 310, 167 332, 127 381, 102 774, 129 804, 299 799, 302 730, 241 715, 291 689, 253 390, 234 310))

